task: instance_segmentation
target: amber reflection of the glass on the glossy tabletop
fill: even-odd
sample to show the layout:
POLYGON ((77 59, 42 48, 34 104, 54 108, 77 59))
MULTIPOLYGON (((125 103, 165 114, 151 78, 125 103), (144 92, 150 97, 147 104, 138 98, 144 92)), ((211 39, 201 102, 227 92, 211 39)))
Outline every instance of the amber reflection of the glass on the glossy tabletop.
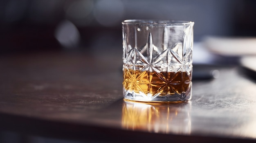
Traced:
POLYGON ((142 103, 124 100, 122 128, 155 133, 190 134, 190 101, 142 103))

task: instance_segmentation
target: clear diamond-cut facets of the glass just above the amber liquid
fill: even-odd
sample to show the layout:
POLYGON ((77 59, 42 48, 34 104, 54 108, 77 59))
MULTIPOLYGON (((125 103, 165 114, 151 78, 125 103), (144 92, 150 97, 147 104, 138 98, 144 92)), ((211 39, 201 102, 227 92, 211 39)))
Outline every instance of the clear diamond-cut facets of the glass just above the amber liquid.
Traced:
MULTIPOLYGON (((191 31, 191 26, 187 27, 186 29, 191 31)), ((183 44, 176 43, 174 47, 167 47, 161 53, 159 53, 159 51, 155 51, 156 48, 153 45, 152 34, 149 32, 148 40, 146 42, 145 56, 136 48, 137 46, 134 48, 129 48, 130 51, 128 51, 126 54, 127 56, 124 57, 124 64, 133 70, 150 72, 156 71, 157 73, 160 73, 161 71, 190 71, 192 65, 191 46, 193 41, 191 41, 191 38, 186 38, 187 36, 191 36, 191 32, 185 34, 183 44), (157 55, 155 53, 157 53, 157 55)), ((130 45, 126 47, 130 47, 130 45)))

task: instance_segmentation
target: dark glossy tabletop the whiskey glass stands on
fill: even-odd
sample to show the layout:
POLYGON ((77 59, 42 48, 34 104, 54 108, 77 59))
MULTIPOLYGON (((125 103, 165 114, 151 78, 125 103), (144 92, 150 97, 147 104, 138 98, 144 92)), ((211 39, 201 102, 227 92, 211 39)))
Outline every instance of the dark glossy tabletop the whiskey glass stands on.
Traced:
POLYGON ((148 104, 123 100, 121 58, 120 51, 2 55, 0 132, 98 142, 256 142, 256 81, 238 66, 218 68, 217 79, 193 80, 190 101, 148 104))

